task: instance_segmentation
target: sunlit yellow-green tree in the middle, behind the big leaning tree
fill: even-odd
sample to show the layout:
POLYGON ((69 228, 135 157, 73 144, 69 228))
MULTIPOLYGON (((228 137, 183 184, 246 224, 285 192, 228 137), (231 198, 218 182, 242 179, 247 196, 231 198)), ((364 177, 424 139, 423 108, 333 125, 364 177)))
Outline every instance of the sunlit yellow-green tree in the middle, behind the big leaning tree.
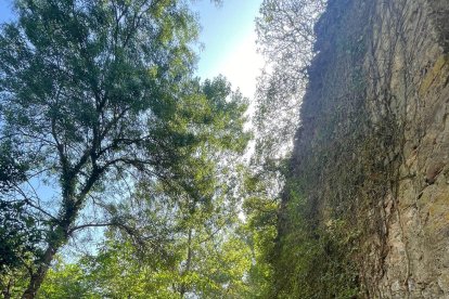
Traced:
POLYGON ((245 289, 251 256, 233 232, 239 156, 247 141, 241 129, 235 131, 243 122, 233 115, 242 115, 244 106, 222 78, 201 89, 211 107, 209 125, 196 128, 202 142, 191 148, 170 184, 139 182, 133 197, 119 208, 139 233, 111 229, 101 253, 90 259, 92 281, 105 297, 232 297, 245 289), (146 247, 146 242, 156 246, 146 247))

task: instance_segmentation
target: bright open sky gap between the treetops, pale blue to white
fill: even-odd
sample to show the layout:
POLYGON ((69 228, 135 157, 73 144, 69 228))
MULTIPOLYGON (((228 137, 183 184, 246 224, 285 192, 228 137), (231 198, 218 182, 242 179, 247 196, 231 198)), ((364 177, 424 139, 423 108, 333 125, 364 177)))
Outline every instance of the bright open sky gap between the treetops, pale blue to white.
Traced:
MULTIPOLYGON (((262 0, 222 0, 216 5, 210 0, 194 0, 202 31, 197 75, 214 78, 223 75, 243 95, 253 98, 256 78, 264 60, 256 51, 254 20, 262 0)), ((11 0, 0 0, 0 23, 13 18, 11 0)))

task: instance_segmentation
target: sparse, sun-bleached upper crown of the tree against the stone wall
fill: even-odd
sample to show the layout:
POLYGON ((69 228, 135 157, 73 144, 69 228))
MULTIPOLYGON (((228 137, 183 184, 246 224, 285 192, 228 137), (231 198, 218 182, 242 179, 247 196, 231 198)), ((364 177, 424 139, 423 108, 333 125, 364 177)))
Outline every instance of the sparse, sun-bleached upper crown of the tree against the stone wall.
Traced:
POLYGON ((256 18, 259 51, 267 67, 256 91, 255 161, 272 168, 293 147, 299 106, 315 52, 313 26, 326 0, 264 0, 256 18), (277 162, 278 161, 278 162, 277 162))

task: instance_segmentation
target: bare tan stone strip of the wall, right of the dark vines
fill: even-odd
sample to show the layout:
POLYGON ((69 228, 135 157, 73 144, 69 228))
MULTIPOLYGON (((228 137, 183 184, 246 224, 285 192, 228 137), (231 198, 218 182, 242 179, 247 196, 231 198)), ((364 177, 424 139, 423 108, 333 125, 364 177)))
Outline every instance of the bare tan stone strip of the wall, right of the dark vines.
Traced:
POLYGON ((441 23, 449 3, 382 2, 376 11, 384 26, 374 38, 388 47, 380 44, 374 55, 392 63, 390 70, 381 66, 382 74, 390 72, 382 86, 390 93, 399 129, 392 151, 400 158, 393 161, 396 186, 386 197, 394 214, 384 219, 383 271, 370 295, 449 298, 449 27, 447 18, 441 23))

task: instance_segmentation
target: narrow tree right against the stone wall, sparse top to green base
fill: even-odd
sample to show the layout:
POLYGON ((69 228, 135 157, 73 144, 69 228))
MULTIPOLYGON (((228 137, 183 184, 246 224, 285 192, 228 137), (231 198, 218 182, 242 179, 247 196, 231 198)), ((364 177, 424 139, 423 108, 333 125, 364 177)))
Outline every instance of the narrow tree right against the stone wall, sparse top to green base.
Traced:
MULTIPOLYGON (((288 276, 284 273, 291 265, 283 264, 287 270, 278 266, 277 246, 280 247, 280 223, 285 212, 283 199, 290 192, 290 154, 295 136, 300 134, 299 107, 309 66, 316 55, 315 26, 326 2, 264 0, 256 18, 259 51, 265 55, 267 66, 258 78, 256 91, 256 143, 251 171, 245 179, 244 210, 245 229, 255 260, 248 277, 253 297, 257 298, 277 297, 277 270, 288 276)), ((292 275, 292 280, 295 277, 292 275)))

